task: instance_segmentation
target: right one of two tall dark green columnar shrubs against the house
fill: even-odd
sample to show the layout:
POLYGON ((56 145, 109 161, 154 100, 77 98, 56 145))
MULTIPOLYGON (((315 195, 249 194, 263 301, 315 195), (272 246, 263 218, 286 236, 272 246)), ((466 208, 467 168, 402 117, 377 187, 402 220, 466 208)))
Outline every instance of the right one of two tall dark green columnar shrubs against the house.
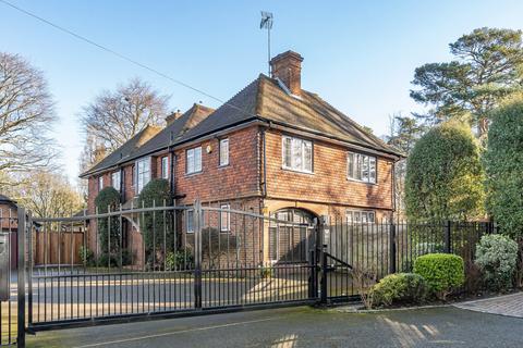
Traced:
MULTIPOLYGON (((153 179, 142 189, 138 196, 138 207, 161 207, 163 203, 170 204, 170 200, 169 182, 163 178, 153 179)), ((145 252, 149 265, 161 263, 166 257, 165 253, 173 249, 174 228, 172 228, 171 222, 171 211, 162 210, 141 214, 139 228, 144 237, 145 252)))

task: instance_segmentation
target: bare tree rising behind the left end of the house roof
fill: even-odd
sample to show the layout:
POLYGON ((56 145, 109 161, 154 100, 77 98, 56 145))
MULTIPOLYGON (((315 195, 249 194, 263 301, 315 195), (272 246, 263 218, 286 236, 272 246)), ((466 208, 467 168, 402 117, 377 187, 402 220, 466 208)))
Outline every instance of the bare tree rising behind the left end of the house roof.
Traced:
POLYGON ((160 125, 167 114, 168 97, 134 78, 114 91, 106 90, 84 108, 82 121, 87 138, 112 151, 147 124, 160 125))

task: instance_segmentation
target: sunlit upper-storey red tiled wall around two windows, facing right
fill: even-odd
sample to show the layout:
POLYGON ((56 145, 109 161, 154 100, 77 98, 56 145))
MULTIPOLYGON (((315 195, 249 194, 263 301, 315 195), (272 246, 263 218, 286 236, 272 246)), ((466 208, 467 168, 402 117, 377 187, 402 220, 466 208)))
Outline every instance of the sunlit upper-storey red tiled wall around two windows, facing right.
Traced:
POLYGON ((377 183, 346 178, 346 152, 341 146, 313 141, 314 174, 282 169, 281 133, 266 133, 267 192, 269 197, 392 209, 392 162, 378 158, 377 183))

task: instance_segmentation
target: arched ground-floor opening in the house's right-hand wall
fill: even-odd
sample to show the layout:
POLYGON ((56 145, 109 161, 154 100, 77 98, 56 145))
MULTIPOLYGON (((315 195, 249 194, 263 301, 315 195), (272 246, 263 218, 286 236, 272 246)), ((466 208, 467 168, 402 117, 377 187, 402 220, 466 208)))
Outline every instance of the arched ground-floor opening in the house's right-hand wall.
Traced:
POLYGON ((272 262, 307 262, 314 245, 313 213, 297 208, 284 208, 270 214, 278 222, 269 223, 269 259, 272 262), (289 223, 285 223, 289 222, 289 223))

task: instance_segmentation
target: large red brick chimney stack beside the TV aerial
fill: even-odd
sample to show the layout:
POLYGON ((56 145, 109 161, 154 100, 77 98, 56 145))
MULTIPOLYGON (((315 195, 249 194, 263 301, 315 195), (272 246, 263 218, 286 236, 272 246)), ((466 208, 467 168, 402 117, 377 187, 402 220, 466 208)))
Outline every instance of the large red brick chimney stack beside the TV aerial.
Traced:
POLYGON ((272 78, 279 78, 291 94, 300 96, 302 91, 303 57, 294 51, 280 53, 270 60, 272 78))

